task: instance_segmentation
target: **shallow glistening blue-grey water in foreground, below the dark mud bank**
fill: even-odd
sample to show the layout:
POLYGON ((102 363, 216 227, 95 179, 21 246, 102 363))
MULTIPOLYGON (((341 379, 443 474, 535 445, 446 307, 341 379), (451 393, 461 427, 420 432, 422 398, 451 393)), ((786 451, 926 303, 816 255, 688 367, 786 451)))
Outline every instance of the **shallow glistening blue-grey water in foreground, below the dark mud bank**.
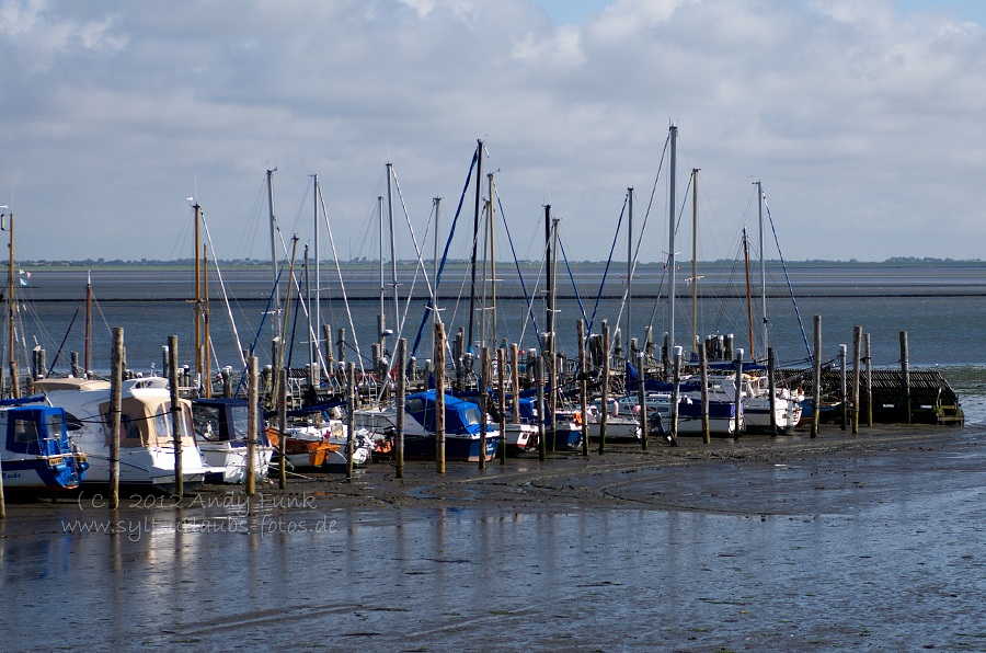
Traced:
POLYGON ((984 651, 984 442, 612 484, 651 509, 131 500, 61 532, 110 518, 90 496, 0 524, 2 648, 984 651))

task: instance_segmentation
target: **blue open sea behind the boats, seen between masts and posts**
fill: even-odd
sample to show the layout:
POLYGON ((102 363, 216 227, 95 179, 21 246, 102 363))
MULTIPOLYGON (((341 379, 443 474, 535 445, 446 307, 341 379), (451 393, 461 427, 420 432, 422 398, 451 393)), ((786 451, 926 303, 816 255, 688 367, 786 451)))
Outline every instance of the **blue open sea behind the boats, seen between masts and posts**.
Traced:
MULTIPOLYGON (((724 273, 721 273, 721 276, 724 273)), ((145 373, 152 368, 162 368, 162 346, 169 335, 179 336, 179 358, 191 362, 191 348, 194 342, 193 311, 185 301, 190 297, 187 273, 176 272, 141 272, 141 273, 102 273, 93 278, 96 297, 93 316, 93 348, 91 366, 98 371, 108 371, 111 329, 124 329, 124 342, 127 351, 127 363, 145 373), (161 298, 170 298, 164 300, 161 298), (118 301, 127 299, 128 301, 118 301), (139 300, 139 301, 135 301, 139 300)), ((214 343, 213 368, 230 365, 239 368, 239 352, 255 346, 261 364, 270 360, 270 343, 274 335, 272 320, 265 318, 270 291, 267 274, 253 270, 246 273, 229 274, 225 278, 230 293, 239 297, 231 300, 229 307, 216 299, 210 305, 210 332, 214 343), (230 320, 230 313, 232 320, 230 320), (233 335, 231 324, 236 323, 239 344, 233 335)), ((607 319, 612 329, 619 323, 627 328, 627 309, 618 298, 601 299, 598 303, 595 295, 599 288, 598 274, 576 277, 580 293, 584 295, 582 302, 573 298, 558 301, 559 348, 562 352, 575 351, 575 322, 585 317, 592 321, 596 332, 601 331, 601 321, 607 319)), ((612 279, 610 279, 612 280, 612 279)), ((326 288, 321 303, 321 320, 331 324, 332 337, 335 340, 337 329, 346 330, 349 345, 347 358, 355 359, 355 343, 368 355, 369 343, 377 337, 377 314, 379 313, 378 289, 374 287, 374 275, 364 271, 357 276, 358 283, 351 284, 348 291, 371 299, 358 299, 349 302, 346 310, 340 300, 339 288, 326 288)), ((32 285, 23 289, 25 301, 20 314, 20 333, 26 335, 28 348, 34 344, 44 347, 49 367, 54 360, 55 370, 65 373, 69 366, 69 352, 84 351, 83 316, 85 277, 82 272, 45 273, 37 272, 32 276, 32 285), (73 321, 74 319, 74 321, 73 321), (62 345, 62 342, 65 343, 62 345), (58 354, 59 348, 61 353, 58 354)), ((217 283, 215 279, 213 289, 217 283)), ((408 279, 404 293, 412 287, 420 291, 420 282, 415 286, 408 279)), ((529 282, 528 293, 534 291, 534 283, 529 282)), ((834 360, 838 355, 839 344, 851 346, 852 330, 859 324, 864 333, 870 334, 872 360, 875 367, 898 368, 901 362, 902 331, 907 332, 910 364, 913 367, 944 369, 945 378, 960 392, 966 414, 971 422, 986 423, 986 264, 982 266, 944 266, 920 268, 881 267, 874 273, 867 267, 846 266, 833 271, 830 267, 798 271, 792 284, 795 293, 804 290, 803 297, 795 302, 787 294, 786 286, 772 289, 777 296, 768 299, 770 319, 770 346, 775 348, 777 360, 781 365, 806 366, 809 344, 813 340, 814 316, 822 317, 824 359, 834 360), (821 288, 821 293, 819 293, 821 288), (800 317, 800 321, 799 321, 800 317)), ((519 293, 519 286, 504 284, 512 291, 519 293)), ((656 285, 639 284, 641 290, 654 290, 656 285)), ((565 279, 563 287, 571 295, 571 282, 565 279)), ((721 279, 713 284, 726 294, 729 284, 721 279), (716 285, 718 284, 718 285, 716 285)), ((443 293, 450 298, 442 301, 443 319, 451 324, 450 333, 466 322, 469 313, 468 279, 456 279, 443 286, 443 293)), ((735 288, 734 288, 735 289, 735 288)), ((607 285, 606 293, 618 296, 621 293, 619 278, 607 285)), ((687 293, 687 290, 681 290, 687 293)), ((408 339, 409 350, 417 339, 422 323, 425 300, 414 299, 410 305, 401 303, 401 319, 393 316, 392 303, 386 305, 388 312, 387 328, 395 334, 408 339), (403 321, 403 325, 401 325, 403 321)), ((309 359, 309 341, 307 319, 298 312, 298 301, 288 308, 288 323, 293 329, 287 331, 290 363, 294 366, 307 364, 309 359)), ((754 316, 758 314, 758 303, 754 303, 754 316)), ((697 332, 699 335, 712 333, 733 333, 737 346, 746 350, 749 357, 747 307, 745 299, 707 299, 700 302, 697 311, 697 332)), ((665 299, 637 298, 631 302, 631 333, 640 341, 644 339, 644 329, 653 326, 654 337, 661 342, 666 330, 667 302, 665 299)), ((492 316, 492 311, 486 311, 492 316)), ((543 297, 535 299, 534 308, 520 299, 503 299, 497 302, 496 336, 517 342, 521 348, 537 347, 536 334, 546 328, 543 297)), ((755 317, 755 321, 758 318, 755 317)), ((681 298, 676 307, 676 341, 688 342, 691 339, 691 305, 688 298, 681 298)), ((321 331, 320 339, 321 339, 321 331)), ((479 322, 474 326, 474 340, 483 333, 479 322)), ((493 326, 486 325, 488 342, 492 344, 493 326)), ((755 335, 755 352, 763 355, 760 335, 755 335)), ((389 347, 395 347, 395 336, 389 340, 389 347)), ((320 343, 324 347, 324 342, 320 343)), ((626 334, 622 336, 623 347, 628 346, 626 334)), ((416 351, 419 360, 431 357, 431 329, 423 330, 423 336, 416 351)), ((851 354, 850 354, 851 355, 851 354)), ((30 355, 22 356, 30 359, 30 355)))

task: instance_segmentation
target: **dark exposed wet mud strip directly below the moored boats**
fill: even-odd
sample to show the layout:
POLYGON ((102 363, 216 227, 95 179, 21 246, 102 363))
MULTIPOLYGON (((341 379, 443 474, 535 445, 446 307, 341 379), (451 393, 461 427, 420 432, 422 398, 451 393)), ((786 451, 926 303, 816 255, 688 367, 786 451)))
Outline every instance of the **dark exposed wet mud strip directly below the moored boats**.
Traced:
MULTIPOLYGON (((254 512, 303 513, 326 509, 482 507, 536 512, 559 508, 639 508, 723 514, 803 514, 846 509, 853 495, 844 495, 847 483, 868 485, 868 467, 879 466, 886 478, 901 478, 894 486, 869 484, 867 501, 906 493, 906 479, 927 471, 929 450, 963 451, 986 446, 986 427, 878 425, 857 436, 838 426, 824 427, 811 438, 806 431, 792 436, 753 435, 738 439, 699 437, 678 439, 670 447, 654 438, 649 450, 639 444, 607 444, 598 452, 593 444, 588 458, 555 452, 539 461, 536 454, 488 462, 447 462, 446 473, 435 463, 409 460, 398 479, 392 460, 344 473, 289 473, 282 491, 274 479, 257 484, 254 512), (767 476, 765 477, 765 473, 767 476), (850 478, 851 477, 851 478, 850 478), (812 480, 814 479, 814 480, 812 480), (770 482, 766 482, 769 480, 770 482), (811 482, 806 482, 811 481, 811 482), (756 491, 746 488, 756 486, 756 491), (825 492, 825 491, 829 492, 825 492), (836 492, 832 492, 836 491, 836 492), (874 495, 874 493, 879 493, 874 495), (825 509, 826 505, 829 509, 825 509)), ((274 472, 276 474, 276 471, 274 472)), ((886 484, 886 483, 884 483, 886 484)), ((2 537, 16 535, 16 524, 34 524, 60 513, 60 507, 91 512, 105 508, 105 489, 65 493, 51 501, 10 496, 2 537)), ((856 493, 862 499, 862 494, 856 493)), ((121 492, 121 509, 140 512, 181 507, 183 516, 209 518, 243 513, 248 499, 243 485, 203 485, 188 491, 180 505, 173 497, 147 497, 129 489, 121 492)))

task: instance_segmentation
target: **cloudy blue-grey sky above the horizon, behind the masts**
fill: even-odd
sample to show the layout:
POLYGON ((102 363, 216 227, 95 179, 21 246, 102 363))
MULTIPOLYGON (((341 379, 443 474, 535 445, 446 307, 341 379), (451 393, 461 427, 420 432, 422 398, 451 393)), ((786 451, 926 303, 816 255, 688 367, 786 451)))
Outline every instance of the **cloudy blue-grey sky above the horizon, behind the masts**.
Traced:
POLYGON ((693 168, 701 260, 758 247, 756 180, 768 257, 981 259, 984 25, 976 0, 0 0, 0 205, 19 261, 188 257, 190 197, 210 255, 264 259, 265 171, 299 248, 318 174, 321 256, 331 229, 372 259, 389 162, 398 255, 429 256, 481 139, 526 259, 550 204, 566 256, 606 260, 630 186, 641 260, 669 214, 690 259, 693 168))

